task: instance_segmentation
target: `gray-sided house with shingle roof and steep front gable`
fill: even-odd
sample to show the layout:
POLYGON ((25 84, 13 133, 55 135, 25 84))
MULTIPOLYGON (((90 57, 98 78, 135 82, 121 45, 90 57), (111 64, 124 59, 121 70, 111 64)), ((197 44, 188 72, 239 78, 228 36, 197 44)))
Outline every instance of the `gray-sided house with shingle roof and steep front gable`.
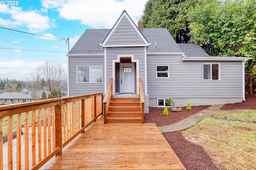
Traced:
POLYGON ((177 44, 166 28, 138 27, 124 11, 112 29, 87 29, 68 53, 68 95, 138 94, 150 107, 236 103, 244 97, 245 57, 210 57, 198 44, 177 44))

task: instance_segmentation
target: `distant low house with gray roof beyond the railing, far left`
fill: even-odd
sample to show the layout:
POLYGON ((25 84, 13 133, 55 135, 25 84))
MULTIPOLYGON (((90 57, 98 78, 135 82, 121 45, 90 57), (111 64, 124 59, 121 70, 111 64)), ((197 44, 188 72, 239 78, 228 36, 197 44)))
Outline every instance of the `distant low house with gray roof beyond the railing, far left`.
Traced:
POLYGON ((0 94, 0 104, 32 102, 32 96, 24 92, 4 92, 0 94))

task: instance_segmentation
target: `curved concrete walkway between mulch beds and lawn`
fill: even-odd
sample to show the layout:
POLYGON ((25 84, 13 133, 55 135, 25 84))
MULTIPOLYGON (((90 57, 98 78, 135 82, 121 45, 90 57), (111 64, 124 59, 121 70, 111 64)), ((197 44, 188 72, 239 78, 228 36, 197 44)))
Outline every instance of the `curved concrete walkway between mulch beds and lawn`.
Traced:
POLYGON ((158 129, 160 129, 160 131, 162 133, 166 133, 166 132, 174 132, 174 131, 180 131, 183 129, 187 129, 188 127, 193 126, 194 124, 196 124, 198 121, 204 119, 206 116, 213 114, 215 111, 217 111, 218 109, 220 109, 220 107, 222 107, 223 105, 213 105, 210 106, 182 121, 179 121, 177 123, 174 123, 172 125, 168 125, 168 126, 162 126, 162 127, 158 127, 158 129))

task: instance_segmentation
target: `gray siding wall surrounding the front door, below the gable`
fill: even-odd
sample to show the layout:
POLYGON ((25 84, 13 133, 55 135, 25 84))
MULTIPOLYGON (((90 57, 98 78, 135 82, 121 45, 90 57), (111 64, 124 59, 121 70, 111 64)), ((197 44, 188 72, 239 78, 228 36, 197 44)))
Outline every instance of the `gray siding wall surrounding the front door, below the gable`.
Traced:
MULTIPOLYGON (((113 77, 112 64, 113 60, 118 60, 118 56, 134 56, 134 60, 139 61, 139 68, 137 72, 139 74, 138 78, 142 79, 142 86, 145 90, 145 52, 144 47, 109 47, 106 49, 106 81, 107 85, 110 78, 113 77)), ((138 79, 137 78, 137 79, 138 79)), ((145 92, 145 91, 144 91, 145 92)))

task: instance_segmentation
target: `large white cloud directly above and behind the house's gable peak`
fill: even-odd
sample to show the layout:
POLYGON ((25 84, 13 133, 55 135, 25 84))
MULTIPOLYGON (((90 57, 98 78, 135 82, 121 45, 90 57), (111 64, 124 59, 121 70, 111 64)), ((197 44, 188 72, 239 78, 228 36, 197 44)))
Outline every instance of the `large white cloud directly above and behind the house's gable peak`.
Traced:
POLYGON ((132 20, 142 15, 147 0, 43 0, 45 8, 57 8, 60 17, 67 20, 80 20, 81 24, 96 28, 111 28, 123 10, 132 20))

